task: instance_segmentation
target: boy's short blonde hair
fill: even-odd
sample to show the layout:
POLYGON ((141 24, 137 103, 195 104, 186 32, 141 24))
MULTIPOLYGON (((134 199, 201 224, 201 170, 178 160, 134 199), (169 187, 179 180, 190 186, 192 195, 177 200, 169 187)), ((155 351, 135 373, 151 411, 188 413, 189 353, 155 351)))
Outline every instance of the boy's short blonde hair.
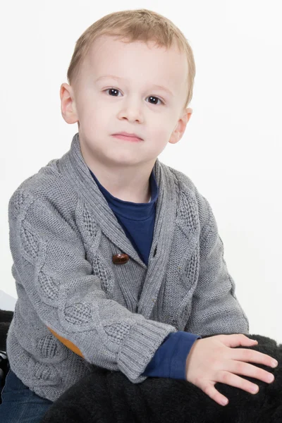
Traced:
POLYGON ((94 22, 80 35, 68 66, 68 83, 71 85, 77 78, 79 68, 85 59, 92 43, 97 37, 109 35, 128 39, 128 42, 156 42, 159 47, 171 47, 176 42, 178 49, 184 52, 188 60, 188 93, 184 108, 190 104, 195 78, 195 61, 192 49, 183 33, 168 18, 145 8, 109 13, 94 22))

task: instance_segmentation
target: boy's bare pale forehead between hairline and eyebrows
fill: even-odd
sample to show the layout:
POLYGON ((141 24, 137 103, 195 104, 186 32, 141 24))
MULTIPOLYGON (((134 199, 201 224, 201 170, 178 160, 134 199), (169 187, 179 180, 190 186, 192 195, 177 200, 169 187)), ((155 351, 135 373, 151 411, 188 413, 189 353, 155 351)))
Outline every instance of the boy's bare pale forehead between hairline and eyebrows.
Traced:
POLYGON ((99 78, 116 75, 129 83, 164 85, 178 94, 186 87, 188 63, 176 44, 169 49, 155 42, 123 42, 114 37, 97 38, 82 63, 82 72, 99 78))

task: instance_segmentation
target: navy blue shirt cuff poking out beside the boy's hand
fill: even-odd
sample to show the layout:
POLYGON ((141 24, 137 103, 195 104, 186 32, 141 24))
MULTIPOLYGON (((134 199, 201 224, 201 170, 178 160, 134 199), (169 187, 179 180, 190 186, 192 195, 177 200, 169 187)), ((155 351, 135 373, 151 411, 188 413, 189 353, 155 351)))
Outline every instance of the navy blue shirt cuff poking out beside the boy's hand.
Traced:
POLYGON ((192 345, 201 338, 199 335, 185 331, 170 333, 157 349, 144 374, 186 380, 186 359, 192 345))

